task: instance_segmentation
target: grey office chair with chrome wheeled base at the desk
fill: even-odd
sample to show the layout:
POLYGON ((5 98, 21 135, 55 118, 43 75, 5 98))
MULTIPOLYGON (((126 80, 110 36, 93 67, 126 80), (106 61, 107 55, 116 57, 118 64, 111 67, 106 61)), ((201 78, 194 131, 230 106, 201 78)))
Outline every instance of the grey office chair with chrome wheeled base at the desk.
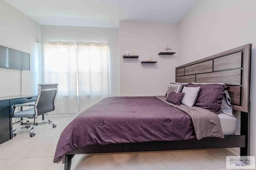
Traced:
POLYGON ((16 133, 13 133, 14 131, 19 129, 24 129, 24 128, 30 128, 30 126, 32 125, 33 127, 30 129, 30 137, 34 137, 34 135, 36 135, 35 133, 33 133, 33 130, 34 130, 34 127, 37 125, 52 124, 52 127, 55 128, 57 125, 52 123, 52 121, 46 119, 46 120, 37 122, 37 117, 39 115, 43 115, 44 113, 54 111, 57 93, 58 93, 58 84, 38 84, 38 96, 36 98, 35 104, 14 105, 12 107, 13 118, 24 118, 24 117, 34 118, 34 122, 28 122, 26 123, 26 125, 19 127, 17 129, 14 129, 12 131, 12 136, 13 137, 16 136, 16 133), (16 107, 28 107, 28 106, 33 106, 34 108, 14 113, 16 107))

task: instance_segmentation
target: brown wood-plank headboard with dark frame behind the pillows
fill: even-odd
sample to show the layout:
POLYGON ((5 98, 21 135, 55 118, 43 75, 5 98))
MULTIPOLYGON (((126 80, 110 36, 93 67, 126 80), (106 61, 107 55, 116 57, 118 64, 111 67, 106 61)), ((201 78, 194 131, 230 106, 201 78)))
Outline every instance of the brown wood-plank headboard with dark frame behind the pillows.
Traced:
POLYGON ((234 110, 248 112, 252 44, 176 67, 176 82, 225 83, 234 110))

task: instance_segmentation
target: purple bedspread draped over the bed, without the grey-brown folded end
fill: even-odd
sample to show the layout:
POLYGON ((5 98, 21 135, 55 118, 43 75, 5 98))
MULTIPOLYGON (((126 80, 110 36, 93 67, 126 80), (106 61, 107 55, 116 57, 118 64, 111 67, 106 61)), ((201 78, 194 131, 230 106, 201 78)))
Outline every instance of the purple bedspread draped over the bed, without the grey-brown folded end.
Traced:
POLYGON ((109 97, 80 113, 64 129, 54 162, 89 145, 193 138, 190 116, 156 97, 109 97))

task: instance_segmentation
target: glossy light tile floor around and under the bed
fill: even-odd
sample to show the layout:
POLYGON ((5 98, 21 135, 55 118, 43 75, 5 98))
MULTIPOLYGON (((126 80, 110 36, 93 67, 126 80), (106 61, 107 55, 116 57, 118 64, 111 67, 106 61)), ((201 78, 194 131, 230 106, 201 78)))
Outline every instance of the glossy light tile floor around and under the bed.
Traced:
MULTIPOLYGON (((46 115, 57 127, 38 125, 17 131, 14 139, 0 145, 0 170, 64 170, 52 163, 60 133, 76 115, 46 115)), ((38 118, 38 120, 40 120, 38 118)), ((80 154, 72 159, 72 170, 216 170, 226 169, 227 149, 80 154)))

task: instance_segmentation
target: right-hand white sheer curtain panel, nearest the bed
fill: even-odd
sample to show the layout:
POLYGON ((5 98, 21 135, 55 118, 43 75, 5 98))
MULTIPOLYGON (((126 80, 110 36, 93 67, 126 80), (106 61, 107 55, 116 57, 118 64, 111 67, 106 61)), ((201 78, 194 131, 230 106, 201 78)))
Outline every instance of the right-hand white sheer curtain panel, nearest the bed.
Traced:
POLYGON ((80 111, 109 96, 108 47, 77 45, 80 111))

